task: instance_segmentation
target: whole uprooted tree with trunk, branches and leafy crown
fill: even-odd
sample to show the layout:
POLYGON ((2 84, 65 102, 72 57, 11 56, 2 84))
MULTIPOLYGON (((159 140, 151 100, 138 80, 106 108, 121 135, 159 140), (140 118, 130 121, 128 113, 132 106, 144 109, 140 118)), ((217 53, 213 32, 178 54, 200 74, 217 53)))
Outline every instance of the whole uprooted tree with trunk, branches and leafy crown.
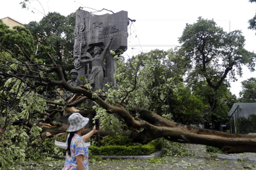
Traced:
MULTIPOLYGON (((21 48, 20 50, 22 51, 21 48)), ((138 86, 141 86, 142 79, 146 78, 150 80, 148 86, 153 87, 154 83, 158 83, 155 82, 156 78, 153 77, 154 75, 151 75, 152 77, 149 77, 150 75, 145 77, 150 72, 150 69, 158 69, 156 67, 154 68, 156 66, 155 63, 149 66, 152 56, 147 55, 144 58, 134 57, 127 63, 124 63, 119 58, 119 66, 123 71, 121 69, 118 70, 120 72, 116 74, 116 79, 122 87, 117 89, 112 87, 108 93, 102 94, 93 92, 87 87, 88 85, 79 87, 68 85, 64 79, 61 67, 56 65, 50 55, 52 65, 44 65, 33 61, 36 54, 30 58, 24 51, 22 53, 26 60, 20 60, 18 57, 12 55, 11 52, 1 47, 2 65, 0 75, 2 80, 7 80, 4 89, 1 91, 1 110, 3 110, 1 112, 1 142, 5 141, 8 134, 17 130, 18 126, 24 127, 21 130, 22 136, 34 134, 34 137, 37 137, 40 133, 49 131, 48 128, 43 128, 42 131, 38 128, 42 122, 54 126, 54 130, 51 131, 53 134, 57 134, 67 128, 67 125, 59 122, 54 123, 52 121, 54 115, 63 114, 64 110, 68 108, 72 111, 72 107, 83 100, 92 100, 97 104, 94 106, 94 110, 97 111, 98 115, 107 118, 104 121, 112 121, 111 119, 115 116, 120 122, 126 124, 130 130, 130 137, 134 142, 146 144, 153 139, 164 137, 167 140, 179 143, 204 144, 218 147, 227 153, 256 152, 256 138, 253 135, 238 135, 209 129, 193 128, 172 122, 160 116, 159 113, 156 114, 146 109, 152 102, 150 97, 148 97, 149 95, 156 95, 155 97, 159 98, 159 103, 164 103, 164 100, 167 100, 167 94, 164 95, 162 92, 165 91, 168 93, 174 90, 175 81, 177 81, 175 79, 178 79, 175 78, 177 77, 177 70, 179 70, 177 66, 175 66, 175 70, 170 65, 169 70, 172 70, 168 73, 166 70, 162 70, 163 76, 167 76, 165 74, 168 74, 172 78, 163 78, 168 83, 161 88, 154 85, 159 89, 140 89, 138 86), (142 61, 144 62, 143 65, 141 65, 142 61), (6 68, 3 69, 3 67, 8 67, 9 70, 6 68), (144 74, 144 76, 140 74, 144 74), (52 78, 50 78, 50 75, 52 78), (44 96, 37 93, 38 88, 42 86, 61 86, 68 91, 76 93, 79 99, 70 103, 47 101, 44 96), (136 97, 137 95, 139 97, 136 97), (56 107, 52 110, 47 109, 47 103, 56 107), (146 108, 138 106, 144 106, 146 108), (38 116, 37 122, 32 122, 35 116, 38 116)), ((168 55, 169 57, 166 57, 167 60, 170 58, 178 60, 177 57, 179 57, 179 54, 174 54, 173 51, 170 51, 168 55)), ((172 63, 170 61, 166 62, 169 64, 172 63)), ((166 108, 158 109, 158 112, 164 112, 164 109, 166 108)), ((74 111, 77 110, 75 109, 74 111)), ((92 110, 85 109, 79 112, 82 114, 91 114, 92 110)), ((9 140, 12 141, 16 138, 20 138, 21 141, 25 140, 21 136, 11 136, 9 140)), ((26 139, 28 139, 28 136, 26 139)), ((5 145, 9 144, 9 142, 4 143, 5 145)))

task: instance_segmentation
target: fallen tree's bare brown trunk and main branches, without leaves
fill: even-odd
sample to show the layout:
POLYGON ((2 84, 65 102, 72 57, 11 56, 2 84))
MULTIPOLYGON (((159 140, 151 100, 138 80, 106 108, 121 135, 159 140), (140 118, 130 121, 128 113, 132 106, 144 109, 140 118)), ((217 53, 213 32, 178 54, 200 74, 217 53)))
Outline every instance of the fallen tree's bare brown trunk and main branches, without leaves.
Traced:
MULTIPOLYGON (((31 61, 33 64, 36 64, 31 59, 29 59, 29 61, 31 61)), ((161 117, 160 115, 157 115, 154 112, 140 107, 134 107, 133 110, 129 109, 128 111, 128 109, 125 109, 123 105, 124 103, 108 104, 106 102, 107 100, 102 99, 102 95, 95 93, 93 94, 92 90, 86 88, 85 86, 70 86, 65 81, 62 68, 59 65, 54 64, 52 68, 48 70, 40 68, 39 66, 37 67, 39 70, 46 73, 56 73, 56 75, 58 76, 58 78, 56 78, 57 80, 41 77, 40 74, 38 76, 20 73, 10 75, 3 71, 1 75, 5 78, 20 78, 23 82, 27 83, 29 82, 30 78, 38 80, 38 82, 36 82, 36 85, 32 84, 29 86, 31 88, 34 88, 34 86, 37 87, 39 85, 59 85, 65 88, 67 91, 72 91, 73 93, 81 94, 81 96, 83 96, 78 100, 73 101, 72 103, 55 104, 56 108, 54 107, 54 109, 52 109, 51 111, 48 110, 49 113, 40 113, 40 115, 44 116, 44 118, 38 119, 37 124, 42 121, 50 123, 52 126, 56 125, 56 127, 54 127, 55 129, 49 129, 48 127, 44 127, 42 137, 46 137, 46 132, 50 132, 52 135, 56 135, 61 131, 66 131, 68 129, 67 125, 61 125, 60 123, 52 122, 52 118, 55 114, 57 114, 58 112, 60 114, 63 114, 63 111, 66 107, 70 107, 68 108, 70 111, 76 112, 77 109, 72 108, 74 107, 73 105, 82 102, 82 100, 92 100, 100 107, 104 108, 108 114, 115 114, 120 116, 122 118, 122 121, 126 123, 128 128, 130 128, 130 137, 134 142, 146 144, 156 138, 164 137, 167 140, 179 143, 204 144, 214 146, 220 148, 226 153, 256 152, 256 136, 230 134, 208 129, 193 128, 187 125, 172 122, 168 119, 161 117), (28 80, 25 80, 25 78, 27 78, 28 80), (140 116, 139 118, 136 118, 136 113, 138 111, 140 112, 140 116)), ((93 111, 91 113, 95 114, 95 112, 93 111)), ((32 127, 31 124, 28 124, 28 126, 30 128, 32 127)), ((3 131, 5 131, 5 128, 3 128, 3 131)))

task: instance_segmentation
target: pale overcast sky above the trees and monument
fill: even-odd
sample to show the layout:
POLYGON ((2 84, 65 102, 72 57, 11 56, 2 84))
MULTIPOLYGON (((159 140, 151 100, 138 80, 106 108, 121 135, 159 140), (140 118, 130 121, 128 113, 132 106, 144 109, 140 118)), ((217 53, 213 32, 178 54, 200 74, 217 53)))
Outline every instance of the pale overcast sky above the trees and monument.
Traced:
MULTIPOLYGON (((0 0, 0 18, 12 17, 21 23, 40 21, 48 12, 59 12, 67 16, 78 7, 86 11, 107 9, 113 12, 128 11, 128 17, 136 21, 128 29, 127 55, 148 52, 152 49, 168 50, 179 46, 186 23, 193 24, 198 17, 214 19, 224 31, 241 30, 245 36, 245 49, 256 51, 256 31, 248 30, 248 20, 255 15, 256 3, 248 0, 30 0, 29 9, 22 9, 22 0, 0 0), (88 7, 88 8, 85 8, 88 7), (32 13, 31 11, 34 11, 32 13)), ((106 10, 94 13, 102 15, 106 10)), ((256 69, 256 68, 255 68, 256 69)), ((230 91, 239 96, 241 81, 255 77, 243 67, 243 77, 231 81, 230 91)))

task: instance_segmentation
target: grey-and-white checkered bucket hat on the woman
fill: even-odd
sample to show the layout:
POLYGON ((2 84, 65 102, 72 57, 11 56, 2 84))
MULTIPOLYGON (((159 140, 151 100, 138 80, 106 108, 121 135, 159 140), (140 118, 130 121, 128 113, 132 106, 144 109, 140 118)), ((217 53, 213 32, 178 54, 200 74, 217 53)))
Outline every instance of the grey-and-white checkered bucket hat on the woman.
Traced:
POLYGON ((82 129, 88 122, 89 119, 80 115, 80 113, 73 113, 68 117, 69 132, 75 132, 82 129))

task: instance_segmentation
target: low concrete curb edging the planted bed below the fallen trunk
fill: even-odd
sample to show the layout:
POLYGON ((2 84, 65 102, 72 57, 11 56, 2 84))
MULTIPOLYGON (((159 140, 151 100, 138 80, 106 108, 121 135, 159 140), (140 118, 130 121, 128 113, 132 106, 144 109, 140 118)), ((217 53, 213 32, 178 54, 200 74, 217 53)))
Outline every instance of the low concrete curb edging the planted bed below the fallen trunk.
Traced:
MULTIPOLYGON (((162 149, 161 151, 156 151, 150 155, 138 155, 138 156, 100 156, 97 155, 98 157, 102 159, 141 159, 141 160, 150 160, 151 158, 157 158, 158 156, 162 155, 164 153, 164 150, 162 149)), ((45 155, 44 153, 41 153, 42 155, 45 155)), ((63 156, 60 158, 58 155, 47 155, 53 158, 57 159, 66 159, 66 156, 63 156)))

